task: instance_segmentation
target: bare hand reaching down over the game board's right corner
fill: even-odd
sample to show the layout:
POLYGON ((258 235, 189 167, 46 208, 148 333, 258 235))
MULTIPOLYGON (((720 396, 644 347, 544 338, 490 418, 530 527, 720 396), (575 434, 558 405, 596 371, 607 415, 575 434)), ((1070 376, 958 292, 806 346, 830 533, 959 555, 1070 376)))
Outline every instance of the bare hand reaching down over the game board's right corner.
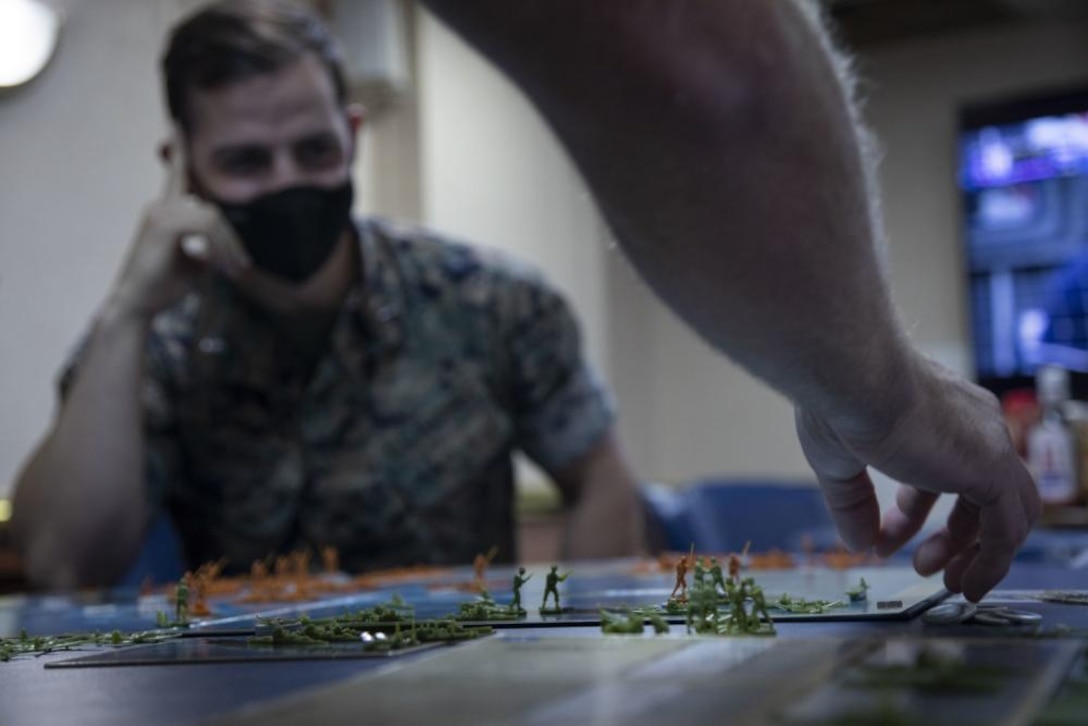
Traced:
POLYGON ((798 435, 843 541, 889 555, 925 522, 941 493, 957 495, 948 522, 914 555, 924 576, 977 602, 1009 571, 1039 517, 1035 482, 1016 454, 997 399, 918 359, 910 409, 888 431, 845 431, 799 410, 798 435), (880 520, 866 467, 903 482, 880 520))

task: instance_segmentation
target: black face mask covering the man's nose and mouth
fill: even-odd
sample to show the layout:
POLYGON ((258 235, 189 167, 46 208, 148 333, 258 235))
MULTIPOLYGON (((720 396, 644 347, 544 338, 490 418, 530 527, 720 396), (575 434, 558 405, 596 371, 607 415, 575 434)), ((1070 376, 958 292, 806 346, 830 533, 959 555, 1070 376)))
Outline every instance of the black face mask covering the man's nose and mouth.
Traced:
POLYGON ((261 270, 302 282, 321 269, 351 218, 355 189, 294 186, 245 204, 215 200, 261 270))

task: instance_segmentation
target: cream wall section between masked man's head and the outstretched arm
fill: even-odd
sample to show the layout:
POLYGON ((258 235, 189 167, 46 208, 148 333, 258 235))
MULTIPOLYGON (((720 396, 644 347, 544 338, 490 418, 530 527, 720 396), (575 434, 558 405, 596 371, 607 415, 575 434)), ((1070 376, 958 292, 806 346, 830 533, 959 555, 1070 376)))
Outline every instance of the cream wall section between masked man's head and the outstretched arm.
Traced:
POLYGON ((606 365, 605 248, 573 167, 524 97, 429 13, 417 60, 423 220, 546 270, 606 365))

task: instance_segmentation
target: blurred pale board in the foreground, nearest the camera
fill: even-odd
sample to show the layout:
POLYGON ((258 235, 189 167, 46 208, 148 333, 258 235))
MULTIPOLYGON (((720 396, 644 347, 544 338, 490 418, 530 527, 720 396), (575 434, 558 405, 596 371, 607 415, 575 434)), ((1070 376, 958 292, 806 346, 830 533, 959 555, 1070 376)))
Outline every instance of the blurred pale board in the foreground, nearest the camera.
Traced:
POLYGON ((623 726, 1019 726, 1060 689, 1083 649, 1075 641, 562 639, 508 631, 215 723, 356 723, 366 714, 373 723, 551 726, 592 714, 595 724, 623 726), (976 676, 955 680, 967 672, 976 676), (882 679, 879 687, 874 678, 882 679))

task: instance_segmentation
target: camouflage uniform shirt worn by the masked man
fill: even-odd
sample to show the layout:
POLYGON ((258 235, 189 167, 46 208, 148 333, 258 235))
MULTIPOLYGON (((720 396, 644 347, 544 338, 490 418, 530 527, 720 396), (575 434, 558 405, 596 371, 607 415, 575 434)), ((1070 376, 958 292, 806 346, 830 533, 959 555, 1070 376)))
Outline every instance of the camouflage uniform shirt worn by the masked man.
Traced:
MULTIPOLYGON (((334 545, 346 569, 516 557, 511 454, 556 470, 613 423, 577 324, 491 253, 357 224, 361 284, 305 364, 222 280, 152 321, 153 506, 188 564, 334 545)), ((62 393, 75 362, 62 377, 62 393)))

